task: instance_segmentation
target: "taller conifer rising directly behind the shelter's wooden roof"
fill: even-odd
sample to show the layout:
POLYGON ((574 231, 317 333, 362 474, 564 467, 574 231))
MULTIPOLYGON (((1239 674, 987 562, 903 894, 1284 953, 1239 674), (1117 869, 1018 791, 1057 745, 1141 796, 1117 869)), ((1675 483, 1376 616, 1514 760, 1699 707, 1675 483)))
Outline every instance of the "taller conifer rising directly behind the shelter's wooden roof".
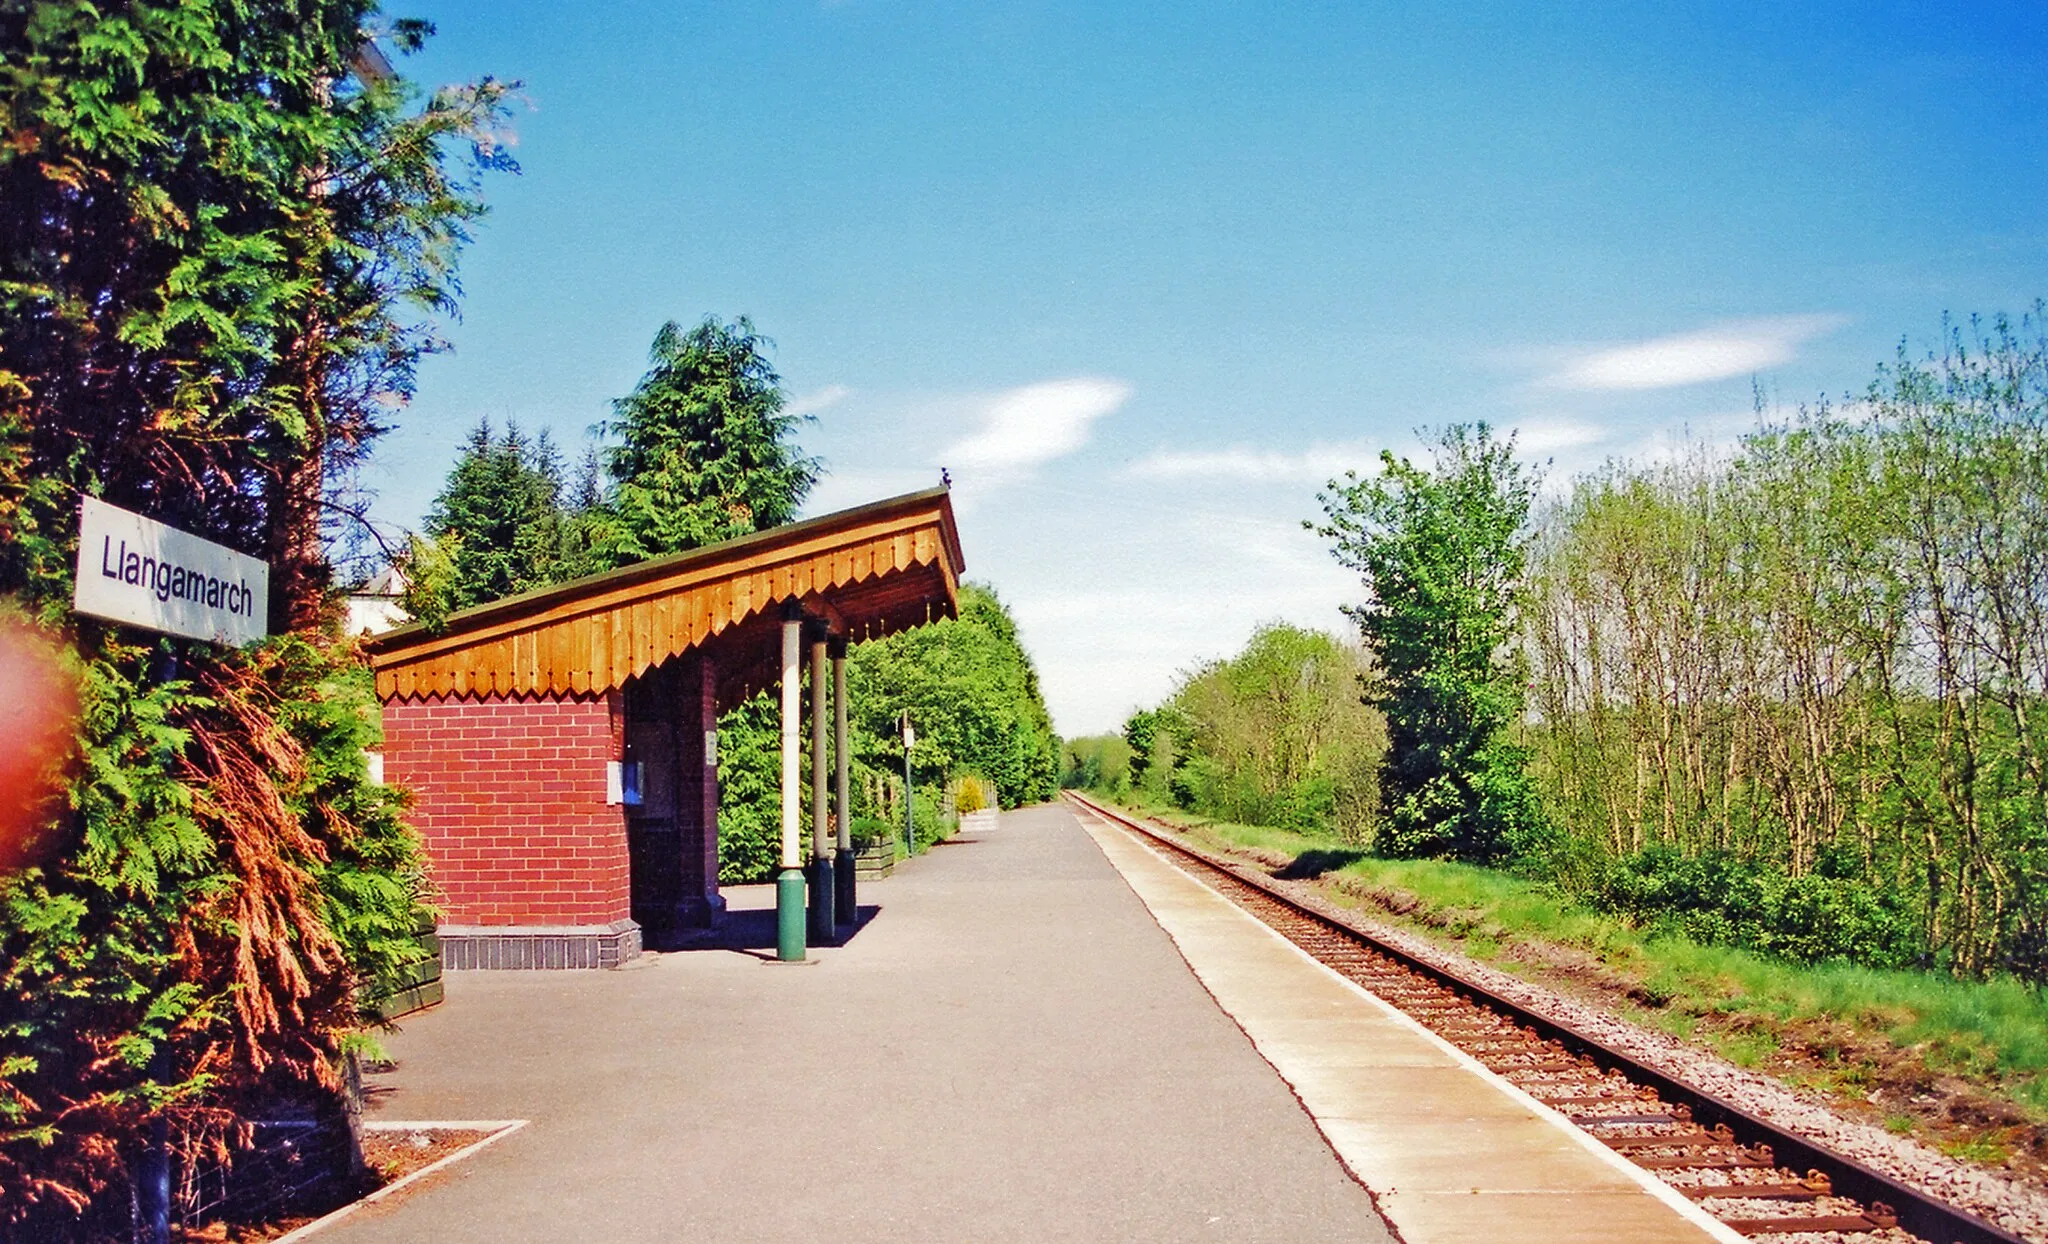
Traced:
POLYGON ((614 566, 780 527, 817 484, 819 463, 782 414, 768 342, 741 316, 664 324, 647 375, 612 404, 612 478, 602 547, 614 566))

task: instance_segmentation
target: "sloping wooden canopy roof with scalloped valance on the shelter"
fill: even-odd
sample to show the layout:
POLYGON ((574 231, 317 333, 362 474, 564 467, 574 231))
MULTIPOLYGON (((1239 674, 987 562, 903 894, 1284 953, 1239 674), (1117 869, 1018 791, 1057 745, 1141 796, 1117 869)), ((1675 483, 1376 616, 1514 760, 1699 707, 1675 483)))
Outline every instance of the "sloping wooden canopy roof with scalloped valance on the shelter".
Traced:
POLYGON ((449 615, 436 633, 365 641, 377 699, 571 695, 702 648, 719 703, 780 676, 782 607, 850 641, 958 613, 961 535, 946 488, 653 557, 449 615))

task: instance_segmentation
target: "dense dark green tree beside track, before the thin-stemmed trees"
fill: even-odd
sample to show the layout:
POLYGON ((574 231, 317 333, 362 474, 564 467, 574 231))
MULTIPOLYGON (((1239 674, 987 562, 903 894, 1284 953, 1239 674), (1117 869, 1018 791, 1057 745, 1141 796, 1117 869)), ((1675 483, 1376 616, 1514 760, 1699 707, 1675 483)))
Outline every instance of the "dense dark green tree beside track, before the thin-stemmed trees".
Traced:
POLYGON ((1380 455, 1331 482, 1317 529, 1370 600, 1348 609, 1378 664, 1386 715, 1380 826, 1397 857, 1497 861, 1538 846, 1544 820, 1509 728, 1524 674, 1509 641, 1536 482, 1487 424, 1436 437, 1434 463, 1380 455))

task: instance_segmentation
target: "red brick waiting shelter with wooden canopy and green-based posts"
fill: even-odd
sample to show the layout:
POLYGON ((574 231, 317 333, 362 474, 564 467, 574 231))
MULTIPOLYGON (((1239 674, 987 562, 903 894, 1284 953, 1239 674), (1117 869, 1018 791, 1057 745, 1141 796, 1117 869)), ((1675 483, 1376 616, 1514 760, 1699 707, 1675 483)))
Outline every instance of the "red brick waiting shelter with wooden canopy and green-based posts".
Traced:
POLYGON ((831 941, 856 910, 846 646, 954 617, 961 568, 952 500, 934 488, 367 639, 385 777, 416 793, 442 963, 612 967, 643 937, 715 922, 717 715, 776 682, 778 957, 831 941))

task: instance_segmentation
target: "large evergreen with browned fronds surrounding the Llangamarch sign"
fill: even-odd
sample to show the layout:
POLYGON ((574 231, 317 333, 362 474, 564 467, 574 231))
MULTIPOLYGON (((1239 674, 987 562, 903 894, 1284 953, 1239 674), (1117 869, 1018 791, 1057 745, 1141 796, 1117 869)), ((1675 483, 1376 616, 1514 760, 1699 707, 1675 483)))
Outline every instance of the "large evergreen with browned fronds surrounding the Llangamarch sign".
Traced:
POLYGON ((82 707, 41 863, 0 873, 0 1234, 125 1219, 152 1115, 219 1148, 252 1101, 334 1109, 356 986, 420 953, 324 514, 453 307, 459 170, 508 162, 502 86, 416 107, 350 76, 371 20, 0 8, 0 592, 72 648, 82 707), (82 494, 266 559, 274 637, 74 619, 82 494))

